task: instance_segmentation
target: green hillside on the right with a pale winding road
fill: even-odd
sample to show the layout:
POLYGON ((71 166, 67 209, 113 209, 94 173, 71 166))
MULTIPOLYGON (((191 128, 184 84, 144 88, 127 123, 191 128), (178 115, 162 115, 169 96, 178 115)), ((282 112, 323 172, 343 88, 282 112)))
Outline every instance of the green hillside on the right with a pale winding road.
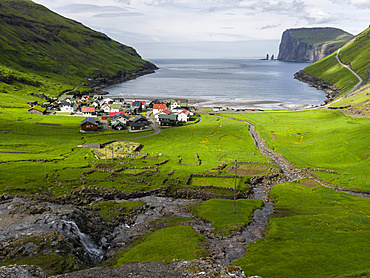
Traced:
POLYGON ((336 52, 298 72, 296 78, 328 90, 328 93, 332 95, 332 100, 349 93, 345 97, 332 102, 330 104, 331 109, 347 108, 346 111, 352 115, 369 116, 369 38, 370 28, 367 28, 344 45, 338 54, 340 61, 348 65, 363 80, 361 86, 354 92, 349 93, 359 80, 348 69, 339 64, 336 52))

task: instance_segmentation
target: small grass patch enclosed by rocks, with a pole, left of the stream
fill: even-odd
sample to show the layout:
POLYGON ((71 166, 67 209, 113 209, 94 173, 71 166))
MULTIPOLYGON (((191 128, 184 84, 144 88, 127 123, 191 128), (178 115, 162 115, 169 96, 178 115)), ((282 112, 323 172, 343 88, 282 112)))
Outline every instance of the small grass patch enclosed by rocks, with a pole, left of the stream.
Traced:
POLYGON ((233 231, 245 227, 252 219, 255 209, 261 208, 261 200, 236 200, 234 213, 234 201, 211 199, 194 205, 195 215, 210 221, 216 233, 230 235, 233 231))

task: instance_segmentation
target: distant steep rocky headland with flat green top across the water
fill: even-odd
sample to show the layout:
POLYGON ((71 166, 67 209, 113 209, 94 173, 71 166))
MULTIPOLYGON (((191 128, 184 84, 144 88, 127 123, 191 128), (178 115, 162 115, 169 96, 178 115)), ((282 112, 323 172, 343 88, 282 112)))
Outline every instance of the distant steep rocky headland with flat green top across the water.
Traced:
POLYGON ((353 36, 337 28, 298 28, 284 31, 278 60, 316 62, 346 44, 353 36))

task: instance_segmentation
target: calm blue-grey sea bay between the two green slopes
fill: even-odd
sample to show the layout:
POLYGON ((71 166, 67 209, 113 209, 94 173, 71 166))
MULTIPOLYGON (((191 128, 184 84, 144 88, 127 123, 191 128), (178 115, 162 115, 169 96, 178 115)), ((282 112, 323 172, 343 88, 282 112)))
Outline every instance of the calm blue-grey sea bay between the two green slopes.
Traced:
POLYGON ((201 106, 281 109, 320 106, 324 91, 294 79, 307 63, 258 59, 155 59, 159 70, 105 88, 110 96, 189 99, 201 106))

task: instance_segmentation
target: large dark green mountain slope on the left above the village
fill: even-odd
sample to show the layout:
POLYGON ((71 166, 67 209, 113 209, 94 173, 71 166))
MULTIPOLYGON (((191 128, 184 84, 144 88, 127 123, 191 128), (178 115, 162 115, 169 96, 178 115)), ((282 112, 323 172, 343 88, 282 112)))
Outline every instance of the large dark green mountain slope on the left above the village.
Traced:
POLYGON ((2 106, 20 106, 29 93, 56 96, 81 83, 91 91, 156 69, 132 47, 30 0, 0 1, 0 31, 2 106))

